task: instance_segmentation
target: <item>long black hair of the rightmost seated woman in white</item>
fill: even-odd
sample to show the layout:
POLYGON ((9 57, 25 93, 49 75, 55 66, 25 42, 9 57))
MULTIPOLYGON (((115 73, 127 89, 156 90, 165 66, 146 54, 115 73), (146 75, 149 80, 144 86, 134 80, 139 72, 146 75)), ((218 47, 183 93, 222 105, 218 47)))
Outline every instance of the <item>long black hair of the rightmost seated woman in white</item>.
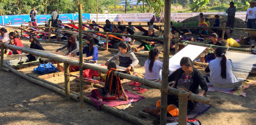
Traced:
POLYGON ((227 57, 225 56, 225 50, 221 47, 217 47, 215 49, 215 55, 217 57, 222 57, 222 60, 220 61, 220 66, 221 66, 221 77, 224 78, 224 79, 227 79, 227 57))

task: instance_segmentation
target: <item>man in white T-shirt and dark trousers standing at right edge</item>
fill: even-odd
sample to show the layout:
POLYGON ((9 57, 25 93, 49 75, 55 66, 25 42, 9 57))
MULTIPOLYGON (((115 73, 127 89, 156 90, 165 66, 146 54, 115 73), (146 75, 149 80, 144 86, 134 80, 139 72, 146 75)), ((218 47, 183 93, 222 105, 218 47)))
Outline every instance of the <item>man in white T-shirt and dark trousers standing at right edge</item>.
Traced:
POLYGON ((247 21, 247 28, 248 29, 255 29, 256 24, 255 24, 255 18, 256 18, 256 7, 255 7, 255 1, 252 0, 250 2, 250 8, 246 12, 246 18, 245 18, 245 23, 247 21))

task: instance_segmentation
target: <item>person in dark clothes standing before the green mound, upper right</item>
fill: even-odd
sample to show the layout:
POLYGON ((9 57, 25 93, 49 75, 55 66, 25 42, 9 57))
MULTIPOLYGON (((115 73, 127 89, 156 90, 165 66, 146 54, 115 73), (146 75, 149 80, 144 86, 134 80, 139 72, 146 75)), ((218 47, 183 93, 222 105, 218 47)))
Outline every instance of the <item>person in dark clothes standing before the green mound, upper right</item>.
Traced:
MULTIPOLYGON (((228 14, 227 27, 234 28, 235 23, 235 14, 236 14, 236 6, 234 6, 234 2, 229 3, 229 8, 226 13, 228 14)), ((233 30, 230 30, 230 34, 232 34, 233 30)))

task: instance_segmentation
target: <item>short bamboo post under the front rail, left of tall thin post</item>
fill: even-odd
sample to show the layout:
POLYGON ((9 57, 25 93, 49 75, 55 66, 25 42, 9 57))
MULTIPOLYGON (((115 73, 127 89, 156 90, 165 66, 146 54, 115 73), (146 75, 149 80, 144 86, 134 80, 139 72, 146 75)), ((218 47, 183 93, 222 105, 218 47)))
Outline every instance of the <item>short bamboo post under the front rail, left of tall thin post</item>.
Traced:
POLYGON ((64 63, 64 77, 65 77, 65 96, 70 99, 70 81, 69 81, 69 64, 64 63))

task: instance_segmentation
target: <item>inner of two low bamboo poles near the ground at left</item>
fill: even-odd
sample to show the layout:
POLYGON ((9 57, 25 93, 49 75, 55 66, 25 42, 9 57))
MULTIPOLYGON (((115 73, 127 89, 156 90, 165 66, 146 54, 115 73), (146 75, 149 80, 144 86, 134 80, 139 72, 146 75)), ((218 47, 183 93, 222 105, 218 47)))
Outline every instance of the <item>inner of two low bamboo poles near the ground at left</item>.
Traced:
MULTIPOLYGON (((50 84, 47 84, 46 82, 43 82, 43 81, 40 81, 40 80, 37 80, 37 79, 34 79, 32 77, 29 77, 28 75, 26 74, 23 74, 15 69, 13 69, 10 65, 7 65, 7 64, 3 64, 5 68, 11 70, 13 73, 17 74, 18 76, 30 81, 30 82, 33 82, 34 84, 37 84, 37 85, 40 85, 40 86, 43 86, 47 89, 50 89, 50 90, 53 90, 63 96, 65 96, 65 90, 63 89, 60 89, 56 86, 53 86, 53 85, 50 85, 50 84)), ((70 97, 72 99, 74 99, 75 101, 79 101, 79 96, 75 95, 75 94, 70 94, 70 97)))

